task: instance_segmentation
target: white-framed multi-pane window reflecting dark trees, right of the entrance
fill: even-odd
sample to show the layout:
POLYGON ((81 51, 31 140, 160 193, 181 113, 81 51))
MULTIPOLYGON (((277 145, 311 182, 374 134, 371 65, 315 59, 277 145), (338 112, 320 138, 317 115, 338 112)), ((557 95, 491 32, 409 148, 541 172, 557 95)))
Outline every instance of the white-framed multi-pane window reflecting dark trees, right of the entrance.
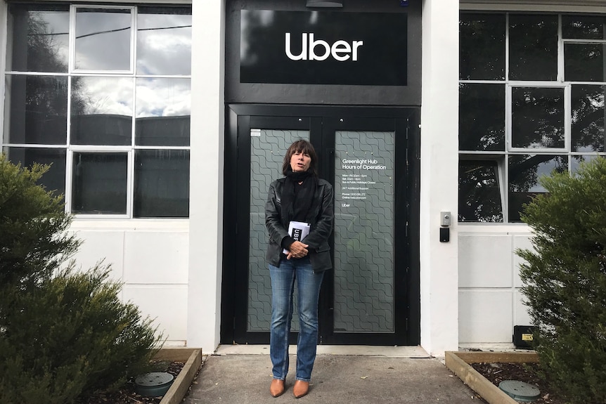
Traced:
POLYGON ((461 13, 460 222, 515 223, 539 178, 606 155, 606 16, 461 13))

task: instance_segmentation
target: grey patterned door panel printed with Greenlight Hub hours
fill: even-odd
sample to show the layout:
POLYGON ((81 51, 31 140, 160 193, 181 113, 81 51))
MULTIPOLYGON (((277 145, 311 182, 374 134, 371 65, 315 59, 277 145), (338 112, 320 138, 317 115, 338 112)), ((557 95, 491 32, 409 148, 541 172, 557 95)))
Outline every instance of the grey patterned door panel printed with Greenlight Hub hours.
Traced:
POLYGON ((335 332, 394 332, 394 132, 335 132, 335 332))

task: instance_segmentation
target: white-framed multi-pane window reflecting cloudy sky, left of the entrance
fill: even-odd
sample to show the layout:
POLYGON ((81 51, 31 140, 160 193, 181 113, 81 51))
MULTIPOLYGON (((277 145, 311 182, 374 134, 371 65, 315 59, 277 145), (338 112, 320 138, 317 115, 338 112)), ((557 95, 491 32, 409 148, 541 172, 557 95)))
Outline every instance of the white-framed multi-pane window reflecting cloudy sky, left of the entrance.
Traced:
POLYGON ((2 150, 79 216, 189 216, 191 6, 8 4, 2 150))

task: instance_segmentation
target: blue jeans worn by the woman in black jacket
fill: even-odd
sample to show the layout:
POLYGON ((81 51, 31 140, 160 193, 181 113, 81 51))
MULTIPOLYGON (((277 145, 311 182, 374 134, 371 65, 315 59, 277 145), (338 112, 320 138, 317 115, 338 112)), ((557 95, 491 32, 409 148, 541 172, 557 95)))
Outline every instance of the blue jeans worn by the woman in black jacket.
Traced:
POLYGON ((273 378, 284 380, 288 373, 288 335, 292 319, 292 292, 297 281, 299 339, 297 341, 297 380, 309 382, 318 344, 318 298, 324 273, 314 273, 309 257, 281 259, 280 266, 269 265, 271 277, 271 332, 269 356, 273 378))

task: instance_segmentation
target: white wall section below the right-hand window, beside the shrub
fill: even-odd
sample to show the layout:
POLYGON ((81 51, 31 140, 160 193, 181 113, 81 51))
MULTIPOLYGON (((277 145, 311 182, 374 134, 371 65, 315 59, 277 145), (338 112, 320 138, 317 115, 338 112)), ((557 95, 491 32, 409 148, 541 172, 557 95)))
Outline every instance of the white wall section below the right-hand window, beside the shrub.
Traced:
POLYGON ((520 293, 520 257, 528 226, 459 226, 459 339, 462 346, 511 343, 514 325, 530 325, 520 293))

